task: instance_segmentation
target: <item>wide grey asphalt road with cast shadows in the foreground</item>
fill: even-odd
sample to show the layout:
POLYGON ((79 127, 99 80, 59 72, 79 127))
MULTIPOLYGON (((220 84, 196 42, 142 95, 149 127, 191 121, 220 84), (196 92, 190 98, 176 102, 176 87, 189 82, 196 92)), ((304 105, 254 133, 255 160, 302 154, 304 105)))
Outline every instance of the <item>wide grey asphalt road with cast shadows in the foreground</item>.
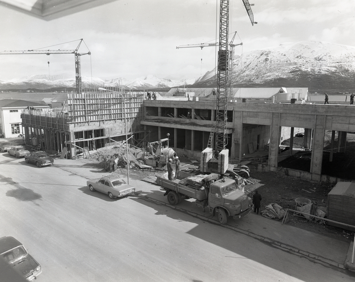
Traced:
POLYGON ((42 265, 39 282, 354 281, 165 205, 111 200, 86 180, 0 153, 0 237, 24 244, 42 265))

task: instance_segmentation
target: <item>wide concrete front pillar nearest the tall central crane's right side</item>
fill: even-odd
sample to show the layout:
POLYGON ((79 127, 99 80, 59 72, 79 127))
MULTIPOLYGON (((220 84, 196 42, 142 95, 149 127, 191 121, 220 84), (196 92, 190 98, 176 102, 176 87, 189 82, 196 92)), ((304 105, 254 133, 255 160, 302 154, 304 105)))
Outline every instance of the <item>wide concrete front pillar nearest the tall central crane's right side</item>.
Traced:
POLYGON ((280 142, 280 113, 272 113, 270 126, 269 169, 276 171, 280 142))

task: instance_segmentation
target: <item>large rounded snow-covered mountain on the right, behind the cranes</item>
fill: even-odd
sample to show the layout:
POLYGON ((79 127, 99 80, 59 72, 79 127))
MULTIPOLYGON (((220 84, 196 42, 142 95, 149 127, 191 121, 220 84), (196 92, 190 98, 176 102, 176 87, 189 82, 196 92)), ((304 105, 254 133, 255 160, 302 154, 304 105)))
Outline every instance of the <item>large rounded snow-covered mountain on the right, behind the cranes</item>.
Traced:
MULTIPOLYGON (((329 42, 302 41, 257 49, 234 60, 234 84, 355 88, 355 47, 329 42)), ((215 70, 195 85, 215 83, 215 70)))

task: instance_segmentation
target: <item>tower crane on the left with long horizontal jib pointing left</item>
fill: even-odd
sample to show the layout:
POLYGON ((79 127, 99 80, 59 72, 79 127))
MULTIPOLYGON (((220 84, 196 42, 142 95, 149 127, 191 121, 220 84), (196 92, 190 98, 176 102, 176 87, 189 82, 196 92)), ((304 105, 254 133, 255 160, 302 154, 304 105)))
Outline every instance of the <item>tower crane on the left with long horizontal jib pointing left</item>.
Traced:
POLYGON ((82 55, 91 55, 91 52, 87 53, 78 53, 80 44, 83 42, 83 39, 80 39, 80 42, 75 50, 27 50, 27 51, 3 51, 0 52, 0 55, 9 55, 9 54, 74 54, 75 56, 75 82, 76 82, 76 92, 81 93, 81 67, 80 67, 80 56, 82 55))

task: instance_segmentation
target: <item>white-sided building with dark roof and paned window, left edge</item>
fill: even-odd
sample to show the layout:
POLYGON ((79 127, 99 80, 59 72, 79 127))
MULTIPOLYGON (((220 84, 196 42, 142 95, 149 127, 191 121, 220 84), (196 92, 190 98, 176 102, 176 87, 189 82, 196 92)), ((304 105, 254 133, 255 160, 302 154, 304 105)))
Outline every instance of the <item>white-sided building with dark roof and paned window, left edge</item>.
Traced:
POLYGON ((40 111, 49 109, 49 106, 42 101, 0 100, 0 137, 14 138, 23 134, 21 112, 28 107, 33 107, 40 111))

